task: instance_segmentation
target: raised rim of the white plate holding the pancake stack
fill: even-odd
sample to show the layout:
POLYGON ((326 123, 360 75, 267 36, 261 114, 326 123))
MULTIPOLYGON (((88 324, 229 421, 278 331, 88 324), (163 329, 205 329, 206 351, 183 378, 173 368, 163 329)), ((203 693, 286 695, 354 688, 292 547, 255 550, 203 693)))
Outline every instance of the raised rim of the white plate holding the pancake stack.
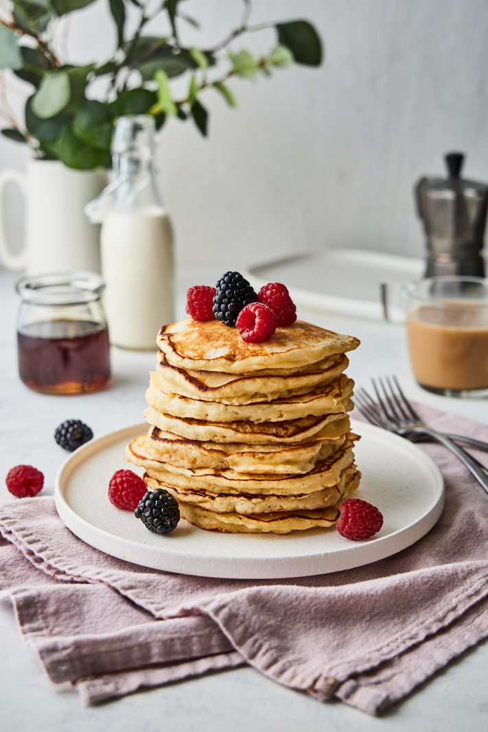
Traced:
MULTIPOLYGON (((443 511, 444 482, 442 474, 434 461, 425 452, 404 438, 363 422, 354 422, 353 429, 360 433, 365 441, 380 442, 383 448, 380 471, 388 471, 391 468, 388 461, 388 446, 394 448, 393 452, 400 450, 407 460, 411 460, 417 466, 423 468, 425 476, 424 490, 429 492, 429 506, 415 520, 411 520, 410 523, 386 536, 380 536, 376 539, 371 538, 366 542, 350 542, 344 539, 343 547, 334 550, 325 548, 325 550, 315 550, 308 554, 296 556, 293 553, 293 535, 298 532, 292 532, 292 534, 276 537, 283 548, 281 556, 269 556, 265 552, 263 556, 245 556, 245 552, 242 556, 229 556, 225 551, 218 556, 208 556, 208 554, 195 551, 175 550, 175 547, 171 548, 169 543, 161 545, 160 548, 155 547, 144 541, 135 541, 110 533, 89 523, 89 521, 78 515, 78 512, 70 506, 64 495, 70 477, 93 455, 111 447, 114 443, 129 442, 137 435, 146 432, 146 422, 109 433, 90 441, 73 452, 64 462, 56 477, 56 509, 67 528, 86 544, 117 557, 117 559, 123 559, 143 567, 163 569, 167 572, 215 578, 277 579, 306 577, 338 572, 341 569, 361 567, 364 564, 370 564, 373 561, 379 561, 396 554, 417 542, 427 531, 432 529, 443 511)), ((361 464, 359 467, 361 469, 361 464)), ((192 527, 192 529, 202 534, 202 542, 206 541, 208 534, 215 536, 218 533, 222 537, 222 546, 225 548, 225 538, 229 534, 208 532, 198 529, 198 527, 192 527)), ((149 536, 152 535, 149 534, 149 536)), ((168 539, 169 537, 165 538, 168 539)), ((240 541, 242 542, 252 542, 253 538, 253 534, 240 534, 240 541)), ((241 546, 244 547, 245 545, 242 544, 241 546)))

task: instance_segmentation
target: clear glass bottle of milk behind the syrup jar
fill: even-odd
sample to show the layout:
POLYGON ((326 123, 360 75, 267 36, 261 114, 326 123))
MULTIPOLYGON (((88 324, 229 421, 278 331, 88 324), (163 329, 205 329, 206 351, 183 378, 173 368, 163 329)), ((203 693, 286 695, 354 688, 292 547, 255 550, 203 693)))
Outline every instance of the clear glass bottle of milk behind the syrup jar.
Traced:
POLYGON ((160 327, 174 322, 173 233, 152 170, 154 132, 151 116, 117 121, 116 178, 86 211, 102 223, 103 302, 111 343, 138 350, 155 349, 160 327))

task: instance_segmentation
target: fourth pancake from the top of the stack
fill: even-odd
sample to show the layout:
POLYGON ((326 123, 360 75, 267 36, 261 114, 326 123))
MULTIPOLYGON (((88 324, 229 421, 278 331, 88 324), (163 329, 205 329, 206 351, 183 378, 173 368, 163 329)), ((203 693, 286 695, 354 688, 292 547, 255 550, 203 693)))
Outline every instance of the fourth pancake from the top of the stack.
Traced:
POLYGON ((246 444, 295 444, 314 436, 335 439, 350 430, 347 414, 325 414, 283 422, 207 422, 205 419, 173 417, 152 407, 144 411, 149 425, 188 440, 245 442, 246 444))

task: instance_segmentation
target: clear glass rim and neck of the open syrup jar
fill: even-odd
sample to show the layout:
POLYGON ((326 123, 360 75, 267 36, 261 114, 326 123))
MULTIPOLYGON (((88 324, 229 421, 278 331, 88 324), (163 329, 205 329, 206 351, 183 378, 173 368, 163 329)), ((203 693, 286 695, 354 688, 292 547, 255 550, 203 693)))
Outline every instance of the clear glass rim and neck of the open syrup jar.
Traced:
POLYGON ((96 272, 53 272, 28 275, 15 289, 33 305, 81 305, 100 299, 105 283, 96 272))

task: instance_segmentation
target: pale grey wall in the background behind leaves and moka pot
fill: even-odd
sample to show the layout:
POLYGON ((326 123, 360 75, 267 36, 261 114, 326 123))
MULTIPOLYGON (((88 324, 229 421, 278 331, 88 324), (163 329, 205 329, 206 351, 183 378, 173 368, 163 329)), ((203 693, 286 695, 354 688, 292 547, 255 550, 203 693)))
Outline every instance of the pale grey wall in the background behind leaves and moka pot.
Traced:
MULTIPOLYGON (((219 40, 238 23, 238 0, 189 0, 219 40)), ((325 42, 319 70, 232 81, 239 109, 210 91, 210 138, 171 120, 158 149, 160 187, 183 263, 248 261, 320 247, 420 255, 412 187, 443 173, 442 156, 467 152, 465 173, 488 181, 488 3, 483 0, 255 0, 253 21, 308 18, 325 42)), ((274 34, 234 48, 266 51, 274 34)), ((106 0, 78 12, 67 36, 75 62, 110 55, 106 0)), ((18 104, 14 100, 14 104, 18 104)), ((0 167, 27 151, 0 138, 0 167)), ((21 235, 12 194, 12 225, 21 235)))

